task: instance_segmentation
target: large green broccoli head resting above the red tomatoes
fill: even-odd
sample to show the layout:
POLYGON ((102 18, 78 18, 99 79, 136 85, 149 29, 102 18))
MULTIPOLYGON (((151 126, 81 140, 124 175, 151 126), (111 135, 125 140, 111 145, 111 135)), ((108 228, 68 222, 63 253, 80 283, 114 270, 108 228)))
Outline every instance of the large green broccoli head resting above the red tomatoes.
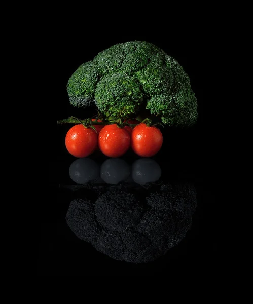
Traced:
POLYGON ((145 41, 116 44, 82 64, 67 83, 72 105, 106 115, 138 115, 146 108, 170 126, 196 123, 197 99, 188 75, 162 49, 145 41))

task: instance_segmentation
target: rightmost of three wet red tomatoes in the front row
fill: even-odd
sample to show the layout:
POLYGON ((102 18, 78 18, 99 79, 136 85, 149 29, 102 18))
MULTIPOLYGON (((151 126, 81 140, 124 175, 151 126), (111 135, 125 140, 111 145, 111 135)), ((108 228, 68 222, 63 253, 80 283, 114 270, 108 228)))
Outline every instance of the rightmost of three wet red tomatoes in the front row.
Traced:
POLYGON ((131 146, 138 156, 154 156, 161 149, 162 143, 162 132, 155 126, 148 127, 140 123, 132 131, 131 146))

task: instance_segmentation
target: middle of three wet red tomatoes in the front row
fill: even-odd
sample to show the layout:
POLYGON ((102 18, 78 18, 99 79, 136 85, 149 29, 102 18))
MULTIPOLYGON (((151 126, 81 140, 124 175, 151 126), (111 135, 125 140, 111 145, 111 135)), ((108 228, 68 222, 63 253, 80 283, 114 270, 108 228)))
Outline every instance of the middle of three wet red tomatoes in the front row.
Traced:
POLYGON ((108 157, 120 157, 130 147, 130 135, 117 124, 106 125, 99 133, 98 146, 108 157))

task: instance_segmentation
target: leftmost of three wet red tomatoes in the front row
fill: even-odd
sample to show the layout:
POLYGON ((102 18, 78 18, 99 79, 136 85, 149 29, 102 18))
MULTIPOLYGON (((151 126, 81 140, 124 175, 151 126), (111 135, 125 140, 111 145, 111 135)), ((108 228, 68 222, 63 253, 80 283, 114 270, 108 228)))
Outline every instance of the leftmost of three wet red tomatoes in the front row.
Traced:
POLYGON ((96 131, 80 124, 68 130, 65 145, 71 155, 80 158, 92 154, 97 146, 97 141, 96 131))

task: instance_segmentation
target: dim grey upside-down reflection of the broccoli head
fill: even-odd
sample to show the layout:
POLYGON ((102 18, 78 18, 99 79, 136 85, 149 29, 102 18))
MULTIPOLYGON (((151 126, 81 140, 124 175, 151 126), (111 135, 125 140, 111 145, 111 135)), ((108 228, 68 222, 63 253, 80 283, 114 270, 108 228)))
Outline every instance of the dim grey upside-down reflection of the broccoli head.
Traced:
POLYGON ((141 263, 155 260, 185 237, 195 208, 192 185, 167 184, 143 202, 119 189, 101 194, 95 204, 74 200, 66 220, 80 239, 98 251, 141 263))

